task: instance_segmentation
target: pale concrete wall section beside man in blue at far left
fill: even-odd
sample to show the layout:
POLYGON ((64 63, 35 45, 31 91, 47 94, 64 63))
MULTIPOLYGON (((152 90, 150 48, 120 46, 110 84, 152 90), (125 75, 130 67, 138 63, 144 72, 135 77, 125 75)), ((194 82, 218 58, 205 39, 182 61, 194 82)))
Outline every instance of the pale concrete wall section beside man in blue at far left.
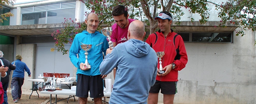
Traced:
POLYGON ((22 56, 22 62, 26 63, 31 72, 31 77, 28 77, 28 73, 25 72, 25 79, 22 88, 32 88, 32 82, 29 82, 28 79, 34 79, 37 77, 34 75, 34 66, 36 58, 36 44, 18 44, 16 46, 16 54, 22 56))

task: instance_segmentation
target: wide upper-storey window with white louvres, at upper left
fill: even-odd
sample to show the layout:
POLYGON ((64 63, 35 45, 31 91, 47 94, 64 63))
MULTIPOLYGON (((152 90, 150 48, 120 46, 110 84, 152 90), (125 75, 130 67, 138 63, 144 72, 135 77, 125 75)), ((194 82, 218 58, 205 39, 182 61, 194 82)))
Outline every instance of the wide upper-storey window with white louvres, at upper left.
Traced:
POLYGON ((62 23, 64 18, 75 18, 76 2, 38 5, 21 9, 22 25, 62 23))

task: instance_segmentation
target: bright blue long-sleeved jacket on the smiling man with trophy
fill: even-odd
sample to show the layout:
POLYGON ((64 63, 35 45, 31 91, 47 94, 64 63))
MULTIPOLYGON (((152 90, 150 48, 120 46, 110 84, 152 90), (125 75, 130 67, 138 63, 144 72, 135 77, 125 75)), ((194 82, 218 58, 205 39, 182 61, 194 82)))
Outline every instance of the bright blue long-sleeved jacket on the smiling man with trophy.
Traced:
POLYGON ((83 74, 89 76, 100 75, 99 66, 103 60, 103 54, 106 54, 106 50, 109 48, 106 36, 100 34, 98 31, 95 33, 88 33, 83 31, 82 33, 76 34, 72 45, 69 50, 70 61, 77 67, 76 74, 83 74), (89 70, 81 70, 80 63, 85 63, 85 51, 81 48, 81 44, 91 44, 92 48, 88 52, 88 63, 91 65, 89 70), (78 58, 77 58, 78 54, 78 58))

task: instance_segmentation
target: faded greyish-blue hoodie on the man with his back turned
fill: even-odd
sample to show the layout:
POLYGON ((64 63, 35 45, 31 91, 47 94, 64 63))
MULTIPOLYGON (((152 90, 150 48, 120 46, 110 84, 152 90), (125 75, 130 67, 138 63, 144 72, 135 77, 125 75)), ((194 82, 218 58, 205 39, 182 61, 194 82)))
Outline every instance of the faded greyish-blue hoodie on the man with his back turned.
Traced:
POLYGON ((118 44, 100 64, 100 73, 116 69, 109 104, 147 104, 150 87, 156 82, 157 55, 146 42, 130 39, 118 44))

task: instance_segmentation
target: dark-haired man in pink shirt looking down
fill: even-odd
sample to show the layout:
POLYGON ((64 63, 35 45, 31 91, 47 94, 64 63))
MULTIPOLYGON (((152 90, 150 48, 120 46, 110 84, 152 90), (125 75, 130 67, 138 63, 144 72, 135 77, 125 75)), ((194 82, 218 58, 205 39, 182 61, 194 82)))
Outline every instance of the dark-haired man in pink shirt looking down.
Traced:
MULTIPOLYGON (((128 19, 128 9, 123 5, 117 5, 112 10, 114 21, 116 22, 113 26, 113 33, 110 36, 113 46, 127 41, 128 27, 135 19, 128 19)), ((116 68, 114 68, 114 78, 116 77, 116 68)))

